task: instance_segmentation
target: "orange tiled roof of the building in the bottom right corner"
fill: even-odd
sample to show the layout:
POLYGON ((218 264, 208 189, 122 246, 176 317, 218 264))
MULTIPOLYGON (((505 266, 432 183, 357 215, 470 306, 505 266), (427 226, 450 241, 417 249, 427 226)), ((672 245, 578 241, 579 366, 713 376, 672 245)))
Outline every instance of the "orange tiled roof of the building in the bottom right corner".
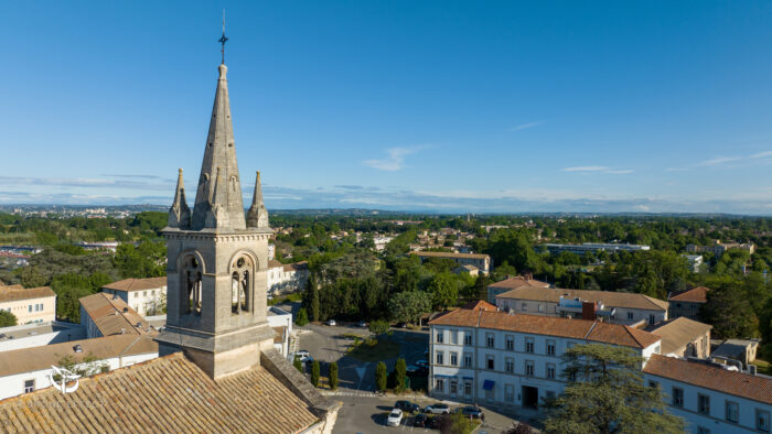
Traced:
POLYGON ((772 380, 700 362, 652 355, 643 371, 686 384, 772 404, 772 380))

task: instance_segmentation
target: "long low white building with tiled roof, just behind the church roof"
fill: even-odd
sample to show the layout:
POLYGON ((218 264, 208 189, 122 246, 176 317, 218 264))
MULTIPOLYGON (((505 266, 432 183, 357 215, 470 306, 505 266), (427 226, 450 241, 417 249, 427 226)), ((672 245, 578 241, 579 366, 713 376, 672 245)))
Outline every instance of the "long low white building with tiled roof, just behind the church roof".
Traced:
POLYGON ((109 371, 158 357, 150 336, 124 335, 0 352, 0 400, 51 386, 51 367, 94 357, 99 371, 109 371))

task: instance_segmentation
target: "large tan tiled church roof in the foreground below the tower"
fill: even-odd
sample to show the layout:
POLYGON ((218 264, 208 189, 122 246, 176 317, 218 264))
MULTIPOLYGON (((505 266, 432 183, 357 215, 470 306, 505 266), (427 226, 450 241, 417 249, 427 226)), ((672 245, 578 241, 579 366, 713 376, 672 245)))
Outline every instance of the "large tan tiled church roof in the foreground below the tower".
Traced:
POLYGON ((9 432, 298 433, 318 421, 265 368, 212 380, 181 352, 0 401, 9 432))

